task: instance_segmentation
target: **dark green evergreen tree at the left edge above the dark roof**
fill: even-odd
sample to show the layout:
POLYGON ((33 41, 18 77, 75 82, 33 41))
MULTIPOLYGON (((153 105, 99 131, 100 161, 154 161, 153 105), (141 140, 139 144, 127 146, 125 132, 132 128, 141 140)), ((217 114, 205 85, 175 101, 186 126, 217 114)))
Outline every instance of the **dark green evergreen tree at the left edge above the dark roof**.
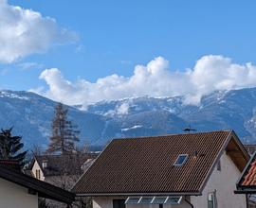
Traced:
POLYGON ((0 132, 0 158, 16 160, 20 166, 25 165, 27 151, 21 151, 24 144, 21 136, 11 136, 12 128, 0 132))

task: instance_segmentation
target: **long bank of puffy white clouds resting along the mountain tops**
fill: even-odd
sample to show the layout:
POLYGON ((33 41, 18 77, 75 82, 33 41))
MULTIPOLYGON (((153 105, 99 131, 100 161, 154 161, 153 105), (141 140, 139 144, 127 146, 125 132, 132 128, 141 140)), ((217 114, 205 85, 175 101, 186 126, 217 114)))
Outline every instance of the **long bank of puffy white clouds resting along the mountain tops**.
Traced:
MULTIPOLYGON (((57 68, 46 69, 40 75, 48 89, 37 93, 69 105, 88 104, 101 100, 131 96, 184 95, 186 104, 198 105, 203 95, 216 90, 241 89, 256 86, 256 66, 236 64, 223 56, 204 56, 191 69, 174 71, 169 61, 157 57, 147 65, 137 65, 133 76, 111 75, 96 82, 66 80, 57 68)), ((120 108, 127 111, 126 106, 120 108)))

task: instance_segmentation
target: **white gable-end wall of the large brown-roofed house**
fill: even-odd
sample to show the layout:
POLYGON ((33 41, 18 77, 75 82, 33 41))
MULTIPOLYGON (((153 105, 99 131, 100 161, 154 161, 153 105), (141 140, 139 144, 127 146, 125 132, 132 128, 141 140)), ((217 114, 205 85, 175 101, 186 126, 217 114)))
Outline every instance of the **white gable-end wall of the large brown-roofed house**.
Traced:
POLYGON ((202 196, 192 197, 191 201, 195 208, 208 207, 208 194, 216 190, 218 208, 246 208, 246 195, 235 195, 236 182, 241 172, 233 164, 225 153, 221 156, 221 171, 214 168, 207 182, 202 196))

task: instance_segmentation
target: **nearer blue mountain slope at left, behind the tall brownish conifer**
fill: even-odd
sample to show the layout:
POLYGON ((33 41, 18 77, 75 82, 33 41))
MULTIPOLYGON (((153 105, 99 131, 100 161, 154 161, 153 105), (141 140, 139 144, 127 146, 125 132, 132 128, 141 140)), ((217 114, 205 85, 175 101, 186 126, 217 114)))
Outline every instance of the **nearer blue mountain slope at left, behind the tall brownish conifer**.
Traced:
MULTIPOLYGON (((35 144, 46 147, 56 104, 33 93, 1 91, 0 127, 5 129, 13 126, 13 133, 23 136, 26 147, 35 144)), ((105 129, 106 119, 101 115, 84 113, 70 107, 69 117, 79 125, 82 142, 100 138, 101 131, 105 129)), ((108 129, 112 130, 111 124, 105 130, 105 136, 108 136, 108 129)))

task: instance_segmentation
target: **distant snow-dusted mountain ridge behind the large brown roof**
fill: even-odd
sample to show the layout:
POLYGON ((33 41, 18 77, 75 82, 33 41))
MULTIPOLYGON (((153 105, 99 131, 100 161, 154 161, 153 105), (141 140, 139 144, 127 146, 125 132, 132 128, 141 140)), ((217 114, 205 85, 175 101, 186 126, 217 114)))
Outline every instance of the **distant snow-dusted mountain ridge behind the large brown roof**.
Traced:
POLYGON ((243 142, 256 143, 256 88, 214 92, 199 106, 184 105, 182 96, 145 96, 102 101, 87 112, 115 120, 124 136, 176 133, 191 125, 198 131, 233 129, 243 142))

